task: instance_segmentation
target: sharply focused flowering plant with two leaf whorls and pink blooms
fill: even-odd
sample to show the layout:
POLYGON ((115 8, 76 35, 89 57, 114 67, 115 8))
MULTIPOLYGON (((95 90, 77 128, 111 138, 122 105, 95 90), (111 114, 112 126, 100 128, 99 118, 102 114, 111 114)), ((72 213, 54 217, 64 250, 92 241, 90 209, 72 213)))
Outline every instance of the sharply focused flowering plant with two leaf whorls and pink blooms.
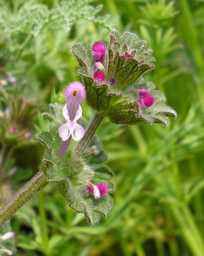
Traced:
MULTIPOLYGON (((98 224, 101 215, 109 215, 110 193, 114 189, 110 181, 113 174, 102 165, 107 156, 94 136, 102 119, 107 116, 112 123, 124 125, 168 125, 167 117, 176 116, 171 107, 161 104, 164 95, 142 78, 154 68, 152 51, 145 46, 146 42, 138 41, 134 34, 125 32, 120 37, 117 31, 110 33, 108 45, 104 42, 96 42, 92 47, 84 43, 74 45, 72 52, 79 62, 78 74, 83 84, 69 83, 64 90, 65 105, 51 104, 51 113, 43 113, 50 121, 50 132, 37 134, 46 150, 41 172, 27 190, 35 187, 38 191, 47 181, 57 183, 69 206, 84 213, 90 225, 98 224), (89 125, 82 118, 80 106, 85 97, 95 111, 89 125)), ((21 191, 22 195, 25 191, 21 191)), ((7 210, 12 207, 8 205, 7 210)))

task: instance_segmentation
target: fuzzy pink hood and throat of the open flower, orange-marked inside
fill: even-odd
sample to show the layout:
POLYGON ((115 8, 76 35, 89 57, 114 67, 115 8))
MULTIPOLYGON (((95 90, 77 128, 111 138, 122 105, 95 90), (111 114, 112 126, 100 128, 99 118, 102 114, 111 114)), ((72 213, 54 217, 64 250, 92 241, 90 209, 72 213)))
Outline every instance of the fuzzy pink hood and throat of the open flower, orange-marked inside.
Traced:
MULTIPOLYGON (((69 119, 71 121, 74 120, 79 108, 79 103, 84 101, 85 96, 86 91, 83 84, 79 82, 71 82, 66 86, 64 90, 64 98, 66 100, 65 105, 67 106, 69 119)), ((65 119, 67 118, 65 117, 65 119)))

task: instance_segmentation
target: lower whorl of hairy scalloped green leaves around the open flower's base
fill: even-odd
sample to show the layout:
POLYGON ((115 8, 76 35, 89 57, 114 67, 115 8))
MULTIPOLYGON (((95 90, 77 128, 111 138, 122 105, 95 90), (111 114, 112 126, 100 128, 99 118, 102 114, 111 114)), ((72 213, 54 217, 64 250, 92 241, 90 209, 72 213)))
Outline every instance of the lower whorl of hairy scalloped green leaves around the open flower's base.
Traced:
MULTIPOLYGON (((99 94, 100 95, 100 94, 99 94)), ((94 171, 93 164, 105 161, 107 156, 101 150, 101 144, 94 136, 89 146, 95 145, 99 150, 97 156, 92 156, 90 166, 85 164, 81 157, 77 157, 71 150, 68 150, 62 159, 57 157, 60 145, 58 128, 61 125, 53 120, 60 120, 62 116, 62 106, 59 104, 50 105, 52 113, 49 114, 50 132, 40 132, 36 138, 47 148, 42 158, 41 170, 47 175, 49 182, 57 183, 60 193, 69 201, 69 206, 77 212, 84 213, 90 225, 96 225, 100 221, 101 215, 107 217, 110 213, 112 198, 110 195, 95 199, 87 192, 87 182, 106 183, 109 192, 112 192, 114 185, 110 182, 113 174, 107 167, 97 167, 94 171), (92 166, 92 167, 91 167, 92 166)), ((85 121, 84 121, 85 123, 85 121)), ((71 148, 71 145, 69 145, 71 148)), ((86 159, 88 162, 88 158, 86 159)), ((98 166, 98 163, 97 163, 98 166)))

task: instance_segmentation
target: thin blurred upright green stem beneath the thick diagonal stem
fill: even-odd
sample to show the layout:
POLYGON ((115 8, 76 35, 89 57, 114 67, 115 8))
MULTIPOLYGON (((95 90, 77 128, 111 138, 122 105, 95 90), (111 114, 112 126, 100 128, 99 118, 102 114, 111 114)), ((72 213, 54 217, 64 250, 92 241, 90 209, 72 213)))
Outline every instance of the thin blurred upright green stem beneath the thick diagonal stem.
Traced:
POLYGON ((47 225, 46 225, 46 213, 45 213, 45 205, 44 205, 44 191, 43 189, 39 191, 38 194, 38 210, 40 214, 40 222, 41 222, 41 229, 42 229, 42 237, 43 237, 43 245, 45 247, 45 252, 48 253, 48 232, 47 232, 47 225))

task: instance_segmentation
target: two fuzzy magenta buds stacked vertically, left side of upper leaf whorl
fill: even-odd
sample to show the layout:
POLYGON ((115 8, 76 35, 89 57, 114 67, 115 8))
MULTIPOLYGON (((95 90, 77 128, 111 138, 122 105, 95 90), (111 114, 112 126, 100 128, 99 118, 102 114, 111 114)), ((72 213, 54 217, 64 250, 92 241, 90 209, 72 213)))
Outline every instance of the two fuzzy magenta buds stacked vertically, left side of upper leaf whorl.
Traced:
POLYGON ((95 42, 91 47, 92 57, 94 60, 94 80, 102 83, 105 81, 105 68, 103 66, 106 54, 106 44, 104 42, 95 42))

